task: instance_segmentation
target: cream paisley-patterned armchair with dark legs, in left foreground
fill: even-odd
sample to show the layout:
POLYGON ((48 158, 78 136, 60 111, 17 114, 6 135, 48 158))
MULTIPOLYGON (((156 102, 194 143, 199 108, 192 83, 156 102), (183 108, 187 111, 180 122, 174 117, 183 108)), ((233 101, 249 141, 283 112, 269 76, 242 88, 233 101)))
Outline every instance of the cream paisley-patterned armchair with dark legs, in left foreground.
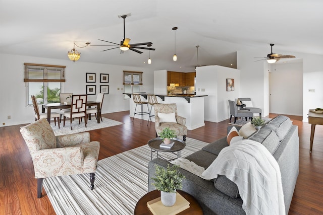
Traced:
POLYGON ((37 197, 41 197, 43 178, 90 173, 94 188, 95 170, 100 149, 90 141, 90 133, 55 136, 45 118, 20 129, 29 149, 37 179, 37 197))

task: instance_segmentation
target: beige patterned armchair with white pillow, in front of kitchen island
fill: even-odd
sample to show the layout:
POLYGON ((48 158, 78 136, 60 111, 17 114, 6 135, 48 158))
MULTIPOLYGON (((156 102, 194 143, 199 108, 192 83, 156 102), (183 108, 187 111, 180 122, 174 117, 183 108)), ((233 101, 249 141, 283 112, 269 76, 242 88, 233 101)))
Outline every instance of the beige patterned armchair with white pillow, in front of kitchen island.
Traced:
POLYGON ((175 130, 176 135, 183 135, 183 140, 186 140, 187 127, 186 118, 177 115, 176 104, 155 104, 155 129, 156 136, 169 127, 175 130))

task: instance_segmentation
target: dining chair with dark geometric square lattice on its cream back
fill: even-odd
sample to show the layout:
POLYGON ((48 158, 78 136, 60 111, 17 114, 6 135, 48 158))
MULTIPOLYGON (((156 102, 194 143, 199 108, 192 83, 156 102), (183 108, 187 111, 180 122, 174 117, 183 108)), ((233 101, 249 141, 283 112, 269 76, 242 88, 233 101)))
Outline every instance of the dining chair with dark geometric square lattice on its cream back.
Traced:
POLYGON ((79 118, 79 124, 81 124, 81 118, 84 117, 84 123, 86 127, 86 100, 87 95, 72 95, 71 110, 63 113, 64 120, 63 126, 65 127, 66 117, 70 118, 71 130, 73 130, 72 122, 73 118, 79 118))

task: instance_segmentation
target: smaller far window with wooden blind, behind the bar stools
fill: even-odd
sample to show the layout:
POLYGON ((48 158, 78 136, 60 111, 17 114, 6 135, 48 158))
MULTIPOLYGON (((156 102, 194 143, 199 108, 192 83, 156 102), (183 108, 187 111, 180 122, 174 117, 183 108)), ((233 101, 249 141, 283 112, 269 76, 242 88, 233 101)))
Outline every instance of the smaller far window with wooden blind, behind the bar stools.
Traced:
MULTIPOLYGON (((123 71, 124 74, 124 93, 140 93, 142 86, 142 72, 141 71, 123 71)), ((125 99, 129 97, 125 95, 125 99)))

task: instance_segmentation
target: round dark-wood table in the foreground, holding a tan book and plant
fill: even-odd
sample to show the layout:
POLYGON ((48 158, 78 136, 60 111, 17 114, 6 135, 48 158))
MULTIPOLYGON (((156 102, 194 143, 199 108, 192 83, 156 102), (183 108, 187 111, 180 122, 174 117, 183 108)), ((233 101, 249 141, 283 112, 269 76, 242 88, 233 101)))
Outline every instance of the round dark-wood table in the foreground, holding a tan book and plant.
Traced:
MULTIPOLYGON (((182 190, 177 190, 179 194, 181 194, 187 201, 190 202, 190 207, 187 208, 186 210, 183 210, 182 212, 178 213, 180 215, 182 214, 203 214, 203 210, 199 203, 196 201, 196 199, 191 196, 190 194, 182 191, 182 190)), ((142 196, 139 201, 137 202, 134 210, 135 215, 150 215, 152 212, 149 210, 147 207, 147 202, 150 200, 153 200, 155 198, 160 197, 160 191, 158 190, 153 190, 142 196)))

